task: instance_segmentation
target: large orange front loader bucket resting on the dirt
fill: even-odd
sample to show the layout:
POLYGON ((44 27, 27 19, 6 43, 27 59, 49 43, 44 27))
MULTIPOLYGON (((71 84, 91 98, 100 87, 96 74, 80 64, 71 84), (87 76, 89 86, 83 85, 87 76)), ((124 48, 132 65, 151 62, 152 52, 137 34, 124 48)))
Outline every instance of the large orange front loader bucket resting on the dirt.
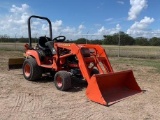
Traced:
POLYGON ((131 70, 95 74, 88 81, 87 97, 103 105, 112 105, 123 98, 141 92, 131 70))

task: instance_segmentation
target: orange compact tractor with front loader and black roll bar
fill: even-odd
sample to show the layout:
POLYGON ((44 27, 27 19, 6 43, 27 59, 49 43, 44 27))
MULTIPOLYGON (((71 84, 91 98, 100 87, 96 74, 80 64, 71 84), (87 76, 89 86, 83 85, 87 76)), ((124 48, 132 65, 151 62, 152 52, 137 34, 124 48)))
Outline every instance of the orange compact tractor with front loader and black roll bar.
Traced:
POLYGON ((52 25, 48 18, 31 16, 28 19, 29 44, 25 45, 25 59, 9 60, 9 68, 20 66, 24 78, 38 80, 44 71, 52 73, 58 90, 71 88, 71 79, 87 81, 87 97, 97 103, 110 105, 125 97, 141 92, 131 70, 114 72, 105 50, 100 45, 65 43, 65 36, 52 39, 52 25), (32 47, 31 18, 46 20, 50 36, 41 36, 32 47))

